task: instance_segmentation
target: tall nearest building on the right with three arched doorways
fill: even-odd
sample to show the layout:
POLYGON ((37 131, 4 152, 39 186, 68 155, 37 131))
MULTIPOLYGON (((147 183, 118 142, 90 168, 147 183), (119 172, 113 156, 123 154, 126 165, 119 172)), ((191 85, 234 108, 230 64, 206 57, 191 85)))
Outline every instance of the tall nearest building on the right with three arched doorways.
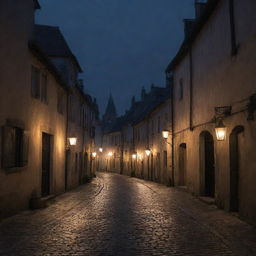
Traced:
POLYGON ((197 7, 166 70, 173 79, 174 183, 256 223, 256 2, 197 7))

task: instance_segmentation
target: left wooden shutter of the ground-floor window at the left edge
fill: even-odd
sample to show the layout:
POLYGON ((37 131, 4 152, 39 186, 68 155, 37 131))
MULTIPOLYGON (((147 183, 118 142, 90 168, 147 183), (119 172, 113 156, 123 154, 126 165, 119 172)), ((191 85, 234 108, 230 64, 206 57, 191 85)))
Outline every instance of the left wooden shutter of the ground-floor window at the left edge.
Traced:
POLYGON ((2 130, 3 147, 2 147, 2 167, 15 167, 15 152, 16 152, 16 135, 15 128, 4 126, 2 130))

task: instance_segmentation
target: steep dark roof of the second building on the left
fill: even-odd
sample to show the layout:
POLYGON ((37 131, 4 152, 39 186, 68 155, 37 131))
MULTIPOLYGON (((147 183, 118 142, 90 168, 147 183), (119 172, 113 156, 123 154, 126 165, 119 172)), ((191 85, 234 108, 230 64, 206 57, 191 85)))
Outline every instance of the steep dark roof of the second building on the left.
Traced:
POLYGON ((79 72, 83 72, 78 60, 70 50, 59 27, 38 25, 34 26, 34 41, 50 57, 70 58, 79 72))

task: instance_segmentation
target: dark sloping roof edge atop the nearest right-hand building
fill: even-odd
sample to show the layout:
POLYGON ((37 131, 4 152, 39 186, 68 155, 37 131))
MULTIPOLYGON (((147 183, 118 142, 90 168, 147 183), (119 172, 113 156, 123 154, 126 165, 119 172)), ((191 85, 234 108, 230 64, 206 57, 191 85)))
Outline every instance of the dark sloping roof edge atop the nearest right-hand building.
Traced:
POLYGON ((204 12, 195 21, 194 28, 192 29, 191 34, 185 38, 178 53, 172 59, 171 63, 167 66, 165 72, 172 71, 189 53, 191 46, 193 45, 194 41, 196 40, 204 25, 208 22, 219 1, 220 0, 208 0, 208 2, 205 5, 204 12))

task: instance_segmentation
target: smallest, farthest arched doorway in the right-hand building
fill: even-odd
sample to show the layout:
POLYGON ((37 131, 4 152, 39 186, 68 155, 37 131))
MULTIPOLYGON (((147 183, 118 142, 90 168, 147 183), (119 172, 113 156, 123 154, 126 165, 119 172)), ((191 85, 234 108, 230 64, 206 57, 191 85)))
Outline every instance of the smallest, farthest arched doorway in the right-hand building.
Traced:
POLYGON ((179 186, 186 186, 187 181, 187 145, 179 146, 179 186))

